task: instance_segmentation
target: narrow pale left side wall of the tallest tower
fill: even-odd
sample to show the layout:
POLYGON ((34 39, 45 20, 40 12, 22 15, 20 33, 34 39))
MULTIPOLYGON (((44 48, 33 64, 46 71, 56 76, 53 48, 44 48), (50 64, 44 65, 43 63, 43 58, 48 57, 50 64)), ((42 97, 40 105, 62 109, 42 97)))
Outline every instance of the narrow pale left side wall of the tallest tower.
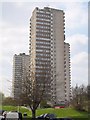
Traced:
POLYGON ((30 21, 30 69, 35 73, 35 59, 36 59, 36 10, 33 11, 30 21))

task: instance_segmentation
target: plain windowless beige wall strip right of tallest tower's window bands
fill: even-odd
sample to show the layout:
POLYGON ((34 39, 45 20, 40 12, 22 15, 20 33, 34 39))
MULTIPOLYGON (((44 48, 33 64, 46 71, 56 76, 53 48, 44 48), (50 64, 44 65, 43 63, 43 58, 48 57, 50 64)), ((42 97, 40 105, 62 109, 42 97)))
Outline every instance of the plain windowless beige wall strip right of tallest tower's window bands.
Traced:
POLYGON ((56 63, 56 101, 65 100, 64 92, 64 17, 62 11, 52 10, 54 57, 56 63))

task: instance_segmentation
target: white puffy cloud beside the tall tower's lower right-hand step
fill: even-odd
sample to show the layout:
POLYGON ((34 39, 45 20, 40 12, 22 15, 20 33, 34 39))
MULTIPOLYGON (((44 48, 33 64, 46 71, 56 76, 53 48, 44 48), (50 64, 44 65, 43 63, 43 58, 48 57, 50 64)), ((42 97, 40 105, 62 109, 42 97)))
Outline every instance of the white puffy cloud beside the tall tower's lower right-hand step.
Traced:
POLYGON ((68 36, 66 42, 70 43, 71 55, 82 51, 88 52, 88 37, 84 34, 68 36))

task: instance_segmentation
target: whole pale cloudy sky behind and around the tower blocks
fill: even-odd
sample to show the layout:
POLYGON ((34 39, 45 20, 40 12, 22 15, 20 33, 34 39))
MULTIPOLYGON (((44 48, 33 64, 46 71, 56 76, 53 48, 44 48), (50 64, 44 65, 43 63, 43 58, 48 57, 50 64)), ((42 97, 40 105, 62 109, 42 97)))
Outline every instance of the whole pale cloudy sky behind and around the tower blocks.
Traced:
POLYGON ((0 3, 0 91, 6 96, 11 91, 13 55, 29 54, 29 20, 35 7, 64 10, 65 41, 71 50, 71 85, 88 84, 88 0, 37 1, 0 3))

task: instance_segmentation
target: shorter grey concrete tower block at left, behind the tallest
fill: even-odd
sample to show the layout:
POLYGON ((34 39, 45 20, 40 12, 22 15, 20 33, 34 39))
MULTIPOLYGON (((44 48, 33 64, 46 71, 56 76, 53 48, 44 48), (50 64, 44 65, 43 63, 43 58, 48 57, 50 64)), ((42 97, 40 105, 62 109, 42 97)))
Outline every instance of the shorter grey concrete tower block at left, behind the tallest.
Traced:
POLYGON ((13 84, 12 94, 13 98, 19 98, 22 92, 22 83, 25 79, 26 71, 29 70, 29 55, 20 53, 13 57, 13 84))

